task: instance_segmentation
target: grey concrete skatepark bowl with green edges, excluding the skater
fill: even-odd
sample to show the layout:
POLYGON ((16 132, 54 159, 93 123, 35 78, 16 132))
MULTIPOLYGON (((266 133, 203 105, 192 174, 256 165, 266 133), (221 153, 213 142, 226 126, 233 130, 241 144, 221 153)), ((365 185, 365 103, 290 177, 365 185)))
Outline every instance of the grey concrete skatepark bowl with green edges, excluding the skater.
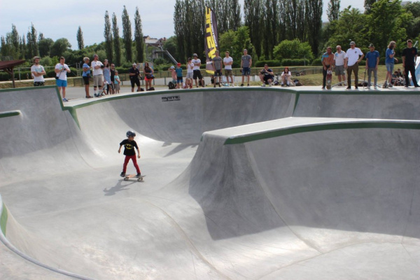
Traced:
POLYGON ((26 87, 0 131, 0 279, 419 279, 413 88, 26 87))

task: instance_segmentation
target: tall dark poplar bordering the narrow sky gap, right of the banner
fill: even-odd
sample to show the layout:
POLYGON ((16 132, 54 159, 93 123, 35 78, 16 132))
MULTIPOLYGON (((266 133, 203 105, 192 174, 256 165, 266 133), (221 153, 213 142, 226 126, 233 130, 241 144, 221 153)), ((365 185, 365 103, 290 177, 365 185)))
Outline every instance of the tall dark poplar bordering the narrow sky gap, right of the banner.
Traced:
POLYGON ((305 0, 304 15, 307 25, 307 38, 314 54, 318 53, 322 27, 322 0, 305 0))

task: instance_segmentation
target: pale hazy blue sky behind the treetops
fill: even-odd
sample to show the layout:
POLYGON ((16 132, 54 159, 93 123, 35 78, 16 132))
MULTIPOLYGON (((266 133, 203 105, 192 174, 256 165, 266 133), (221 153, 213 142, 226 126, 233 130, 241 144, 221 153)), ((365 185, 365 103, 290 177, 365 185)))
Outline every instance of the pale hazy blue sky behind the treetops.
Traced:
MULTIPOLYGON (((240 0, 243 7, 244 0, 240 0)), ((323 1, 323 20, 327 20, 325 10, 329 1, 323 1)), ((31 22, 38 34, 42 32, 45 38, 67 38, 71 48, 77 49, 76 34, 80 25, 83 31, 85 45, 104 41, 104 15, 108 10, 110 18, 116 13, 118 26, 122 35, 121 15, 123 6, 127 7, 130 21, 134 24, 136 6, 139 7, 143 34, 153 38, 174 35, 174 3, 175 0, 70 0, 70 1, 29 1, 0 0, 0 36, 6 36, 12 29, 12 24, 18 29, 19 35, 27 34, 31 22)), ((364 10, 364 0, 342 0, 341 10, 347 6, 364 10)), ((134 27, 132 27, 134 36, 134 27)))

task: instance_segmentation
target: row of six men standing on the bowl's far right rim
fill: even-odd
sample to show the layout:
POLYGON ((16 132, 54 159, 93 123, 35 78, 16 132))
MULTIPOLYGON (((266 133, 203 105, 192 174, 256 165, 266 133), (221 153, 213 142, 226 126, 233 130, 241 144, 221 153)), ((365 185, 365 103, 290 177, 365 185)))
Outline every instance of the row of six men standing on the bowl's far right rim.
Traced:
MULTIPOLYGON (((394 74, 394 65, 395 62, 398 62, 398 59, 395 57, 395 41, 391 41, 388 44, 388 48, 385 53, 385 64, 386 64, 386 78, 383 87, 393 87, 395 84, 395 74, 394 74)), ((374 49, 374 45, 371 43, 369 45, 369 51, 365 54, 356 48, 356 43, 354 41, 350 42, 350 48, 344 52, 341 46, 337 45, 337 52, 332 53, 332 48, 328 47, 327 51, 323 53, 321 57, 323 65, 323 85, 322 89, 325 89, 326 76, 328 71, 335 71, 335 75, 338 77, 339 83, 344 83, 346 80, 347 71, 347 89, 351 90, 351 74, 354 73, 354 87, 358 89, 358 64, 362 61, 363 57, 366 57, 366 66, 367 71, 367 89, 370 89, 372 73, 374 76, 374 89, 377 89, 377 70, 379 65, 379 52, 374 49)), ((407 48, 402 50, 402 67, 404 68, 404 78, 405 78, 405 87, 409 87, 409 73, 411 74, 412 83, 414 87, 420 87, 417 84, 416 75, 415 75, 415 66, 417 59, 417 49, 413 47, 412 40, 407 40, 407 48)))

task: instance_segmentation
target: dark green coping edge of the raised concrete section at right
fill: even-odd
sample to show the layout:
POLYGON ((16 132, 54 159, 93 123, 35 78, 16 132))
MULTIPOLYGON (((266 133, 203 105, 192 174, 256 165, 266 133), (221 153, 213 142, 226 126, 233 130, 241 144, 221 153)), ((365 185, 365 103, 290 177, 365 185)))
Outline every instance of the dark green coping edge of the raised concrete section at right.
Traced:
POLYGON ((244 134, 237 137, 228 138, 225 145, 244 144, 246 142, 257 141, 262 139, 269 139, 273 137, 281 137, 290 134, 297 134, 302 132, 316 132, 321 130, 349 130, 349 129, 362 129, 362 128, 392 128, 392 129, 405 129, 405 130, 420 130, 420 123, 405 123, 395 121, 372 121, 372 122, 358 122, 358 123, 323 123, 319 125, 302 125, 300 127, 281 128, 279 130, 270 130, 268 132, 260 132, 255 134, 244 134))

